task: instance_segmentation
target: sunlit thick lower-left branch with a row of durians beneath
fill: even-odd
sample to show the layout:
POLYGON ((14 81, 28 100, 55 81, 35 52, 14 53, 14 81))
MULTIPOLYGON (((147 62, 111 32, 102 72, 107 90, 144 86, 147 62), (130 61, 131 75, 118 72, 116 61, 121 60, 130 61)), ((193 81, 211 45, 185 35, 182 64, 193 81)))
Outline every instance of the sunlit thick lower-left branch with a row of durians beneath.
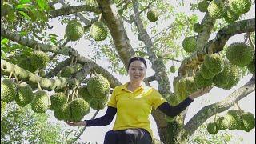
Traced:
MULTIPOLYGON (((47 79, 39 77, 38 75, 31 73, 21 67, 14 65, 10 62, 6 62, 1 59, 1 74, 9 75, 12 71, 17 75, 18 80, 27 82, 31 87, 38 87, 38 82, 42 89, 45 90, 57 90, 66 87, 68 84, 73 84, 75 79, 71 78, 56 78, 56 79, 47 79)), ((77 82, 75 82, 77 83, 77 82)))

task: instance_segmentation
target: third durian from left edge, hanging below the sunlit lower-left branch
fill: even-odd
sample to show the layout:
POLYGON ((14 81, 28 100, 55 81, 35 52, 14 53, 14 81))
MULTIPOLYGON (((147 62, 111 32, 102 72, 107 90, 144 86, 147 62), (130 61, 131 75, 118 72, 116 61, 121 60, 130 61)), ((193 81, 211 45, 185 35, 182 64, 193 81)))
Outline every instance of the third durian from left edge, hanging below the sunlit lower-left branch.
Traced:
POLYGON ((50 98, 46 91, 38 90, 34 93, 34 99, 31 102, 31 108, 36 113, 45 113, 50 106, 50 98))

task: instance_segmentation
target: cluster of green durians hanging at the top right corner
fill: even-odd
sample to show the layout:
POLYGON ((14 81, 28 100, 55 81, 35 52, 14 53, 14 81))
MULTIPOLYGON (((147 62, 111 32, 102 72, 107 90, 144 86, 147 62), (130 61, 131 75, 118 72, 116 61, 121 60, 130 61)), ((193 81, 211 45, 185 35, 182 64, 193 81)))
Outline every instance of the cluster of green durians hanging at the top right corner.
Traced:
POLYGON ((211 18, 224 18, 226 22, 234 22, 250 10, 251 0, 202 0, 198 10, 208 12, 211 18))

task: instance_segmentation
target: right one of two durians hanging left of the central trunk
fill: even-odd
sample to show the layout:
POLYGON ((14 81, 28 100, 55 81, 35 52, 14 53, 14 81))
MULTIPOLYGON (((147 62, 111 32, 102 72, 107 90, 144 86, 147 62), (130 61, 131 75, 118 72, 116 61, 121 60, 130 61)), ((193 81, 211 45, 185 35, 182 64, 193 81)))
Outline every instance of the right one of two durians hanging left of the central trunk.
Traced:
POLYGON ((103 41, 107 36, 107 28, 104 22, 94 22, 90 26, 90 36, 94 38, 95 41, 103 41))

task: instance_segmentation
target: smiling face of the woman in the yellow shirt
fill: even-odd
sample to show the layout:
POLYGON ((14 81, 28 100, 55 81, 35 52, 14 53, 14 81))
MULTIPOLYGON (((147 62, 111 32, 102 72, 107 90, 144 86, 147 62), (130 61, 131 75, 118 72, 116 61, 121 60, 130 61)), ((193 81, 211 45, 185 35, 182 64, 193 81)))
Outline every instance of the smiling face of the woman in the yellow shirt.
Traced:
POLYGON ((130 82, 142 82, 146 75, 146 67, 141 61, 134 61, 130 63, 128 74, 130 82))

